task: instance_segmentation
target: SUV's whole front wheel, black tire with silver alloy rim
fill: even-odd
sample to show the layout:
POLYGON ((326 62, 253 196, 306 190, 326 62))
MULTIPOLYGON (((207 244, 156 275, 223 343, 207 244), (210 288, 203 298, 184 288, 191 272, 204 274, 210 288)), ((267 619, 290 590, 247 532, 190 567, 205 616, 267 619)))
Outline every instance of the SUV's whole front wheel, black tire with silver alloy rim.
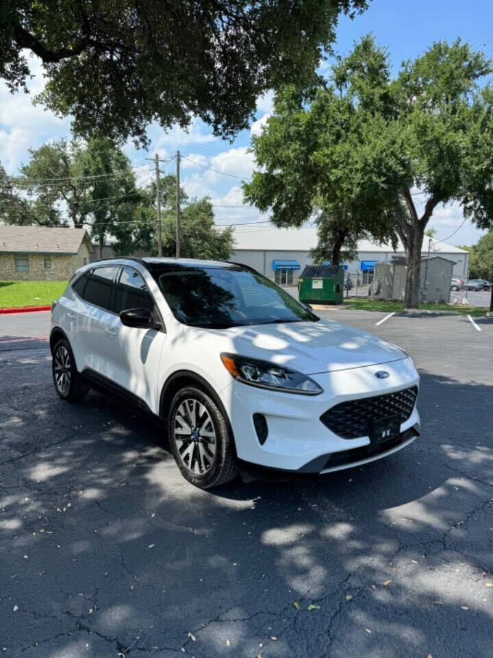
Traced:
POLYGON ((192 485, 210 489, 224 485, 238 474, 226 419, 201 389, 185 387, 173 398, 168 439, 181 474, 192 485))

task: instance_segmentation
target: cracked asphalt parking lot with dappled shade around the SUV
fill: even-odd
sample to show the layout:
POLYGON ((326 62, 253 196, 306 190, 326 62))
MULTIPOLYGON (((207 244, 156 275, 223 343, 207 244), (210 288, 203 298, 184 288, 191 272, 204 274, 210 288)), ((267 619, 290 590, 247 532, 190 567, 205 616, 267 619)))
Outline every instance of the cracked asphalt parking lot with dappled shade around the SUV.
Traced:
POLYGON ((213 491, 140 413, 59 400, 47 313, 0 316, 0 655, 491 657, 493 319, 318 313, 414 357, 421 437, 213 491))

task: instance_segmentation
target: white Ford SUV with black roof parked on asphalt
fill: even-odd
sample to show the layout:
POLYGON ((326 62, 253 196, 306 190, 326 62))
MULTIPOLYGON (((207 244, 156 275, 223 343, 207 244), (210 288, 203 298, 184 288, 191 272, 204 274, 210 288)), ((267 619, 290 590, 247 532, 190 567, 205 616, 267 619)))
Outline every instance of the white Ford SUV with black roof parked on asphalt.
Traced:
POLYGON ((391 454, 419 434, 411 358, 320 319, 249 267, 117 258, 79 269, 53 304, 53 381, 166 420, 199 487, 238 469, 326 473, 391 454))

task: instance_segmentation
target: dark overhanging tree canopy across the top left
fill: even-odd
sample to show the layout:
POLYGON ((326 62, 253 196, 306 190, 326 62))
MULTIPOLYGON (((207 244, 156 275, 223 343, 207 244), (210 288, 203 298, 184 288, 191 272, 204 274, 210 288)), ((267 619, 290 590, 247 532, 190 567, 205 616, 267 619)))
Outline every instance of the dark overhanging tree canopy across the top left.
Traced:
POLYGON ((0 77, 25 88, 26 53, 48 78, 40 99, 75 130, 145 141, 147 123, 192 115, 231 136, 255 101, 284 82, 308 84, 335 38, 340 12, 367 0, 7 0, 0 10, 0 77))

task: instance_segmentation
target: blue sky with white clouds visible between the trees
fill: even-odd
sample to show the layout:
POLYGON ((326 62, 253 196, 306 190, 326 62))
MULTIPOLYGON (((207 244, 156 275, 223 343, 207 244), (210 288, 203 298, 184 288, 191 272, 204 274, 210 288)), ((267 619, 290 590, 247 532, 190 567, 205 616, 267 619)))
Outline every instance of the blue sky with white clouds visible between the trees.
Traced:
MULTIPOLYGON (((374 0, 370 8, 353 21, 342 18, 338 26, 336 52, 344 54, 363 34, 372 32, 379 44, 388 47, 394 72, 405 59, 425 51, 433 41, 453 40, 460 36, 470 40, 493 57, 493 3, 491 0, 374 0)), ((31 90, 42 88, 42 69, 32 61, 36 74, 31 90)), ((322 64, 322 67, 327 64, 322 64)), ((194 121, 188 132, 174 128, 167 134, 157 125, 149 127, 149 151, 137 151, 129 143, 125 147, 132 164, 147 164, 137 169, 140 180, 151 176, 151 165, 146 158, 155 152, 166 157, 180 149, 190 158, 182 160, 182 180, 191 196, 210 195, 219 223, 249 223, 266 219, 255 208, 242 206, 240 178, 249 178, 254 168, 253 156, 248 153, 251 133, 261 129, 271 111, 272 95, 266 94, 257 102, 256 121, 250 130, 238 134, 233 143, 215 138, 207 125, 194 121), (202 165, 202 167, 200 166, 202 165), (229 173, 223 175, 217 171, 229 173), (232 175, 232 176, 231 176, 232 175), (238 176, 239 178, 233 178, 238 176)), ((0 85, 0 160, 10 175, 27 162, 27 149, 36 148, 53 138, 70 137, 70 119, 58 119, 40 106, 33 106, 31 97, 10 95, 0 85)), ((171 171, 173 164, 168 165, 171 171)), ((166 169, 166 167, 164 167, 166 169)), ((457 205, 437 208, 431 226, 438 230, 438 239, 446 239, 460 223, 462 210, 457 205)), ((253 230, 253 228, 252 228, 253 230)), ((453 244, 472 244, 481 232, 470 222, 451 238, 453 244)))

